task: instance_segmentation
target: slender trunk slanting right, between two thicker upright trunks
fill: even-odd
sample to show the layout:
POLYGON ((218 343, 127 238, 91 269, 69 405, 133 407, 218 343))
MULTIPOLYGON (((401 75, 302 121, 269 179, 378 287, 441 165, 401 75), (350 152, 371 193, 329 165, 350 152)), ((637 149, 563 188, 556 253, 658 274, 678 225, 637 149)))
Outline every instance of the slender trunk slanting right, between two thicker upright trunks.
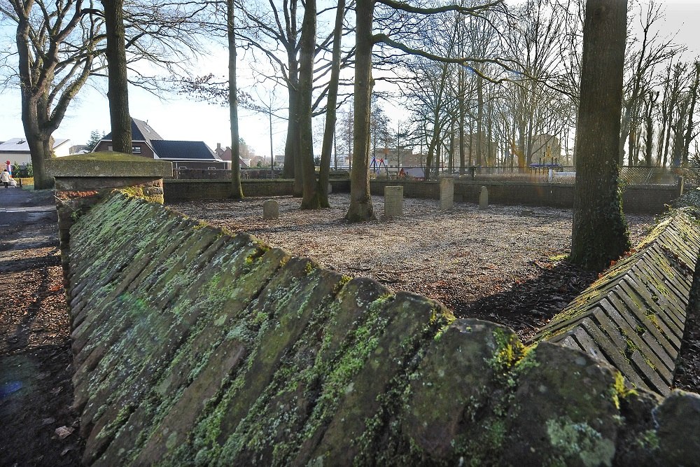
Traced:
MULTIPOLYGON (((340 79, 340 45, 345 16, 345 0, 339 0, 335 13, 335 30, 333 32, 333 55, 328 85, 328 103, 325 106, 325 129, 323 131, 323 146, 321 147, 321 167, 318 173, 318 196, 321 207, 330 207, 328 203, 328 179, 330 174, 330 151, 335 136, 336 109, 338 101, 338 83, 340 79)), ((338 167, 337 153, 335 168, 338 167)))

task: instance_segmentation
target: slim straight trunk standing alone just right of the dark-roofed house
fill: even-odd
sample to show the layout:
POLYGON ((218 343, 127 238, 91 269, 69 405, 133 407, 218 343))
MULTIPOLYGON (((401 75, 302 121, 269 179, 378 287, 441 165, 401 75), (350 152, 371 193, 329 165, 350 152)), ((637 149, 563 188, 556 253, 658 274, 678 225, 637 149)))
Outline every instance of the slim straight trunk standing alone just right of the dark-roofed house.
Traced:
POLYGON ((234 0, 226 0, 228 32, 228 109, 231 119, 231 197, 243 199, 241 186, 241 144, 238 134, 238 85, 236 76, 236 29, 234 0))

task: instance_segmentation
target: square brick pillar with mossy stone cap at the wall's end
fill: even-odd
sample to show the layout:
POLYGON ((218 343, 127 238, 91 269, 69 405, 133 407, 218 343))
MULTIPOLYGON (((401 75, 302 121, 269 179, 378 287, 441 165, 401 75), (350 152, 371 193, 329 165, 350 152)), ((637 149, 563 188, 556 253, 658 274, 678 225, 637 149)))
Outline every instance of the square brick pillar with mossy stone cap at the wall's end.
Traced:
POLYGON ((46 172, 55 179, 61 265, 66 278, 73 223, 113 190, 163 204, 163 178, 172 177, 172 163, 122 153, 88 153, 47 160, 46 172))

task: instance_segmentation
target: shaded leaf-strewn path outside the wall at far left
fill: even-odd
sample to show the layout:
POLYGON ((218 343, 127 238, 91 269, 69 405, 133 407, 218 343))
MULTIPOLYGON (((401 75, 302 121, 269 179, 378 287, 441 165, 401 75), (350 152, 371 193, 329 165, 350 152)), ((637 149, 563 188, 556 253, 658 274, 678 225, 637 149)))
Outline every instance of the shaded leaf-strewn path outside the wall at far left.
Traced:
POLYGON ((78 465, 52 190, 0 186, 0 466, 78 465))

